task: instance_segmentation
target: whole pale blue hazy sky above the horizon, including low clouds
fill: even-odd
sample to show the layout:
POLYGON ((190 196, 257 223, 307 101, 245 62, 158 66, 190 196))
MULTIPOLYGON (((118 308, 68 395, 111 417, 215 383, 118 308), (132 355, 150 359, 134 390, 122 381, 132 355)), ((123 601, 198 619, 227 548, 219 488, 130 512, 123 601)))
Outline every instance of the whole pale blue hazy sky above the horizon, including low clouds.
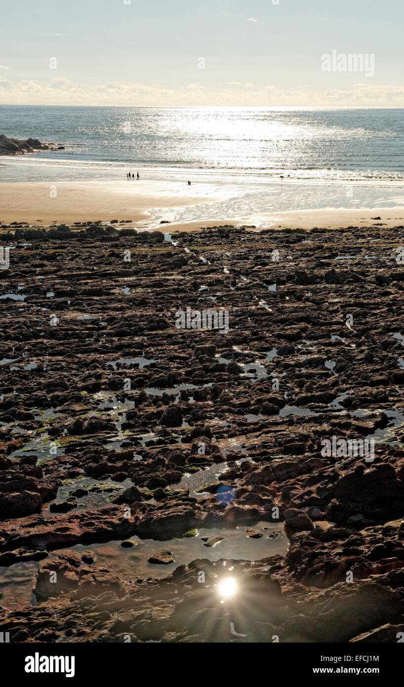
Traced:
POLYGON ((0 104, 403 107, 403 19, 403 0, 8 1, 0 104), (333 50, 374 70, 324 71, 333 50))

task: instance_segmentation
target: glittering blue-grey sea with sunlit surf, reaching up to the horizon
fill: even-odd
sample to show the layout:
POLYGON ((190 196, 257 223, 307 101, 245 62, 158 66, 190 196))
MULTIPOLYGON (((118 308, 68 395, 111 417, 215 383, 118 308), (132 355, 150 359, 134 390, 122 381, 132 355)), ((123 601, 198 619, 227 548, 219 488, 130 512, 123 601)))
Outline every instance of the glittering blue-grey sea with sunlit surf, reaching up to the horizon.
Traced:
POLYGON ((1 157, 0 182, 126 180, 131 171, 141 180, 205 184, 215 202, 179 207, 177 221, 398 207, 404 206, 403 115, 403 109, 3 105, 0 133, 65 149, 1 157))

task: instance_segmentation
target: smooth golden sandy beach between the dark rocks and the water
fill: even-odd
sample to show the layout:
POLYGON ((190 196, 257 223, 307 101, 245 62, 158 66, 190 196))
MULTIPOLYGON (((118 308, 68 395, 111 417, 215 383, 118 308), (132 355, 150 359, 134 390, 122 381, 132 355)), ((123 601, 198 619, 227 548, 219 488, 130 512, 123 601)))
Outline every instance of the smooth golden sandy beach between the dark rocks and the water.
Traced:
POLYGON ((311 229, 323 227, 367 227, 382 223, 396 227, 404 223, 404 207, 338 208, 290 210, 253 216, 203 216, 195 221, 175 221, 177 210, 220 200, 212 183, 188 186, 175 181, 62 181, 52 186, 43 182, 0 184, 0 221, 3 224, 25 222, 48 226, 54 223, 111 220, 129 221, 153 227, 153 212, 158 211, 178 231, 197 231, 203 226, 230 224, 255 225, 257 229, 311 229), (56 196, 55 194, 56 190, 56 196), (51 195, 52 194, 52 195, 51 195))

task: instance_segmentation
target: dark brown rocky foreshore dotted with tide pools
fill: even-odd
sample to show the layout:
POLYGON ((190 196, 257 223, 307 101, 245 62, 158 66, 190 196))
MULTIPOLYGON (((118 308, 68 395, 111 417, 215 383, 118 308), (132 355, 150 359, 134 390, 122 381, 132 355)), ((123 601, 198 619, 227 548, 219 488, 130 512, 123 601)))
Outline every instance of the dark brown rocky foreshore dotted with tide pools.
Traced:
POLYGON ((396 642, 403 227, 0 243, 10 641, 396 642))

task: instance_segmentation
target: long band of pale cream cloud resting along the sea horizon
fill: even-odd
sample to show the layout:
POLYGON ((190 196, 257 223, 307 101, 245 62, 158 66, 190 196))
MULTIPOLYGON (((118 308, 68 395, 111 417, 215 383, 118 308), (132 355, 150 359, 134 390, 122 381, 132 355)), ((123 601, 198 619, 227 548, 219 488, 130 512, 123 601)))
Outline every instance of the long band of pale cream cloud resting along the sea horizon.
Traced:
POLYGON ((348 89, 315 91, 307 86, 278 89, 251 82, 220 87, 190 83, 161 84, 109 81, 85 87, 63 77, 48 82, 0 77, 0 102, 15 105, 257 106, 257 107, 404 107, 404 85, 357 84, 348 89))

